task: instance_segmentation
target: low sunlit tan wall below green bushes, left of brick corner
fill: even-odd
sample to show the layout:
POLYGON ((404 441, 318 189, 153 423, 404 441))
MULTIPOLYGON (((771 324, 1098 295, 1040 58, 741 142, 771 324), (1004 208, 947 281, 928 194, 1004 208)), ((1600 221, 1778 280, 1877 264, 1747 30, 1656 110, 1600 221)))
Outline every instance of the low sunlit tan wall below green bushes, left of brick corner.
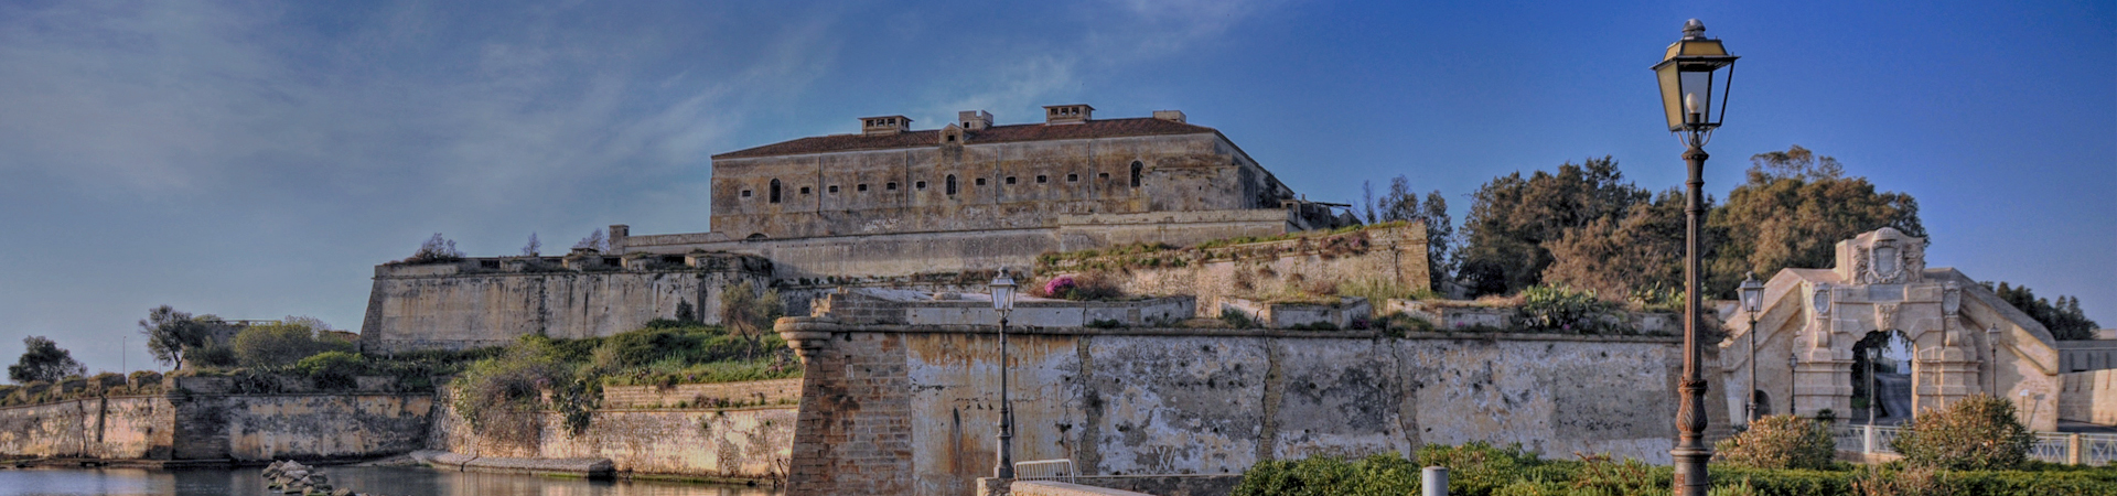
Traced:
POLYGON ((544 413, 536 441, 478 437, 442 405, 432 449, 504 458, 610 458, 618 473, 718 479, 785 477, 794 445, 794 407, 599 409, 578 435, 565 415, 544 413))

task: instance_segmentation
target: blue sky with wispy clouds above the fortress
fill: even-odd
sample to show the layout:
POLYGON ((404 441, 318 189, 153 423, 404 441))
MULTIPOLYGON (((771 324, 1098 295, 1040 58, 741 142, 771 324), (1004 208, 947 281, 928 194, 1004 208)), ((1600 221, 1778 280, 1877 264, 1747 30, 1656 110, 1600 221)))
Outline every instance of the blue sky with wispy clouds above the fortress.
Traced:
POLYGON ((373 267, 709 231, 713 153, 1183 110, 1308 199, 1613 157, 1681 187, 1647 70, 1742 55, 1706 191, 1799 144, 1910 193, 1929 265, 2117 326, 2113 2, 0 2, 0 362, 148 362, 155 305, 360 329, 373 267), (121 354, 123 350, 123 354, 121 354))

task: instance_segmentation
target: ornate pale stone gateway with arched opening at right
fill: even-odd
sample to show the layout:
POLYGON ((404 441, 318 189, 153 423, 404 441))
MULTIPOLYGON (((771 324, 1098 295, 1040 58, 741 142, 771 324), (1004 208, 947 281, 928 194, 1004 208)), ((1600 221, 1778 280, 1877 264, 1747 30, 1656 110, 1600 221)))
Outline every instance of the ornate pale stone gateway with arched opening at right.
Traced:
POLYGON ((1730 324, 1717 392, 1727 411, 1742 411, 1742 392, 1761 390, 1791 392, 1799 415, 1850 418, 1854 343, 1895 331, 1912 346, 1914 411, 1986 392, 2015 401, 2030 428, 2058 428, 2051 333, 1962 271, 1926 269, 1924 237, 1884 227, 1838 242, 1835 269, 1772 276, 1757 314, 1757 384, 1749 384, 1749 316, 1721 316, 1730 324))

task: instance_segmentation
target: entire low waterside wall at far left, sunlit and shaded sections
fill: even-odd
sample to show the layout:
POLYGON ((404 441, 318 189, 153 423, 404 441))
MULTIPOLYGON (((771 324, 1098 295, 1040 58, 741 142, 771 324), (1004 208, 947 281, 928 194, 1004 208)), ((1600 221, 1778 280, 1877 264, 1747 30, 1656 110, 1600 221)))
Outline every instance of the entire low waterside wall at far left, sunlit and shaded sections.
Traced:
MULTIPOLYGON (((0 407, 0 454, 106 460, 347 460, 426 443, 432 394, 239 394, 229 377, 171 377, 165 394, 0 407)), ((373 384, 373 382, 370 382, 373 384)))

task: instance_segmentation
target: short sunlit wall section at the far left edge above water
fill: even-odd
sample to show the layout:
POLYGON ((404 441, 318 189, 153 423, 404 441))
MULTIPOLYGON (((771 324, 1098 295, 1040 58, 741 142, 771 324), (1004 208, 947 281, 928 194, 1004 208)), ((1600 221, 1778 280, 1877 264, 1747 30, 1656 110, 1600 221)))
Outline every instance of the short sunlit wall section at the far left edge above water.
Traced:
POLYGON ((0 407, 0 456, 167 458, 169 422, 163 396, 0 407))

